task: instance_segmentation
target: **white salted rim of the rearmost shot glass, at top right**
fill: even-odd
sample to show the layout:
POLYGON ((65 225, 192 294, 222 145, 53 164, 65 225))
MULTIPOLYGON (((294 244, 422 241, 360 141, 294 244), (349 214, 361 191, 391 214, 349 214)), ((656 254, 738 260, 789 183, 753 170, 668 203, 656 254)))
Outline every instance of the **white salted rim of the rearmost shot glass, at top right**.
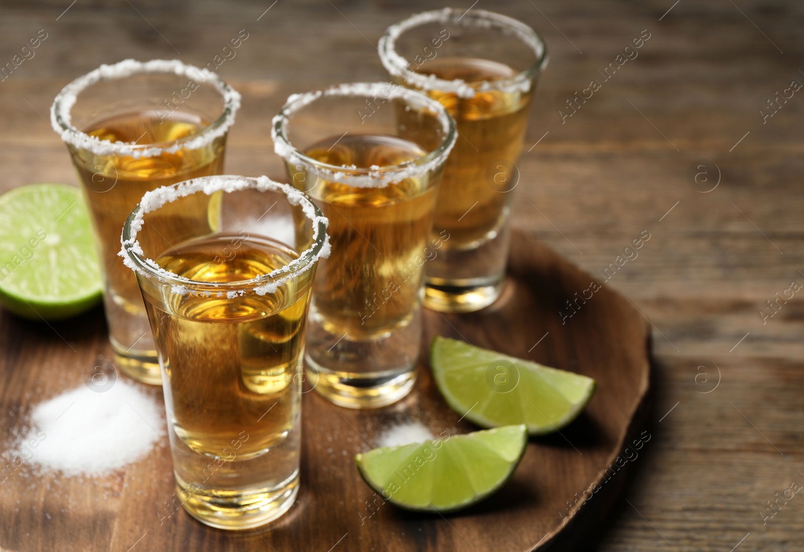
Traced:
POLYGON ((420 90, 454 92, 461 98, 472 98, 477 91, 527 92, 531 89, 533 76, 543 71, 548 63, 547 45, 539 33, 521 21, 486 10, 467 12, 456 8, 444 8, 443 10, 413 14, 403 21, 394 23, 385 30, 385 34, 379 39, 378 51, 379 60, 392 76, 402 79, 405 83, 420 90), (465 27, 494 28, 502 30, 505 34, 515 34, 523 43, 531 47, 536 56, 536 63, 525 71, 506 79, 484 80, 477 83, 467 83, 463 79, 439 79, 436 75, 425 75, 424 73, 411 71, 408 68, 410 62, 396 52, 396 39, 399 39, 400 35, 406 30, 433 22, 449 22, 453 25, 465 27))

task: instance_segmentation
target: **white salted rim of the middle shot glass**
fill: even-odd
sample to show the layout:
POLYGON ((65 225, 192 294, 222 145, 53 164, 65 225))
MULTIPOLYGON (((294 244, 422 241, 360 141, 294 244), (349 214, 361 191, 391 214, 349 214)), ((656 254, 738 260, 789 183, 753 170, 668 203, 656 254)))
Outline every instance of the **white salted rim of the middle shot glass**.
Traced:
POLYGON ((444 106, 419 91, 405 88, 397 83, 344 83, 324 90, 289 95, 285 105, 282 106, 277 116, 273 118, 271 137, 273 138, 273 151, 289 164, 312 166, 319 176, 339 184, 355 188, 384 188, 392 182, 402 181, 405 178, 415 176, 417 173, 425 173, 444 163, 449 152, 452 151, 453 145, 455 145, 456 132, 453 119, 449 116, 449 112, 444 106), (301 108, 305 108, 322 96, 337 95, 365 96, 371 100, 378 98, 384 100, 404 99, 412 108, 429 109, 435 113, 437 120, 441 123, 445 139, 438 148, 435 148, 426 156, 387 167, 372 165, 371 168, 353 168, 315 160, 297 150, 290 143, 287 138, 289 118, 301 108))

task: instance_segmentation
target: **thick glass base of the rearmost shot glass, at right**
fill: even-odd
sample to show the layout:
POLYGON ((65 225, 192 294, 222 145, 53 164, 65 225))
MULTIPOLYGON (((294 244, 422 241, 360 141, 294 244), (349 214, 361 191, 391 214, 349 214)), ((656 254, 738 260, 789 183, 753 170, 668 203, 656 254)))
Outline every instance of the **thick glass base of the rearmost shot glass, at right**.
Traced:
POLYGON ((425 306, 438 312, 480 311, 499 298, 504 279, 505 273, 464 280, 428 277, 425 306))

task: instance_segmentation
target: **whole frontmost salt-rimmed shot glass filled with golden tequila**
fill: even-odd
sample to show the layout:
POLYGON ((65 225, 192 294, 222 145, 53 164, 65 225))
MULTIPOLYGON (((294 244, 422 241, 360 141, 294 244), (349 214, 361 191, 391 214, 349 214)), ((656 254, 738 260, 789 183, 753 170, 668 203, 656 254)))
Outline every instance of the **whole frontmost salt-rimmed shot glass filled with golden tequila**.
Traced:
POLYGON ((146 193, 121 240, 162 368, 178 500, 221 529, 276 519, 298 492, 302 355, 326 218, 267 177, 201 177, 146 193), (192 224, 209 216, 202 197, 217 198, 214 231, 192 224))

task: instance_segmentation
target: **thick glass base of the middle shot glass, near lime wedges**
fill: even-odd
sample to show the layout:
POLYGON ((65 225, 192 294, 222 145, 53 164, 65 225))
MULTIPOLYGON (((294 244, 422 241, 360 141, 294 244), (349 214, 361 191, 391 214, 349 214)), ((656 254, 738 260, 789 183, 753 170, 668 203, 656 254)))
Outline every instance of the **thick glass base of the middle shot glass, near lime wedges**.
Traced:
POLYGON ((306 358, 306 375, 310 385, 332 404, 346 408, 379 408, 396 403, 411 392, 416 384, 416 368, 401 374, 349 373, 330 371, 306 358))

